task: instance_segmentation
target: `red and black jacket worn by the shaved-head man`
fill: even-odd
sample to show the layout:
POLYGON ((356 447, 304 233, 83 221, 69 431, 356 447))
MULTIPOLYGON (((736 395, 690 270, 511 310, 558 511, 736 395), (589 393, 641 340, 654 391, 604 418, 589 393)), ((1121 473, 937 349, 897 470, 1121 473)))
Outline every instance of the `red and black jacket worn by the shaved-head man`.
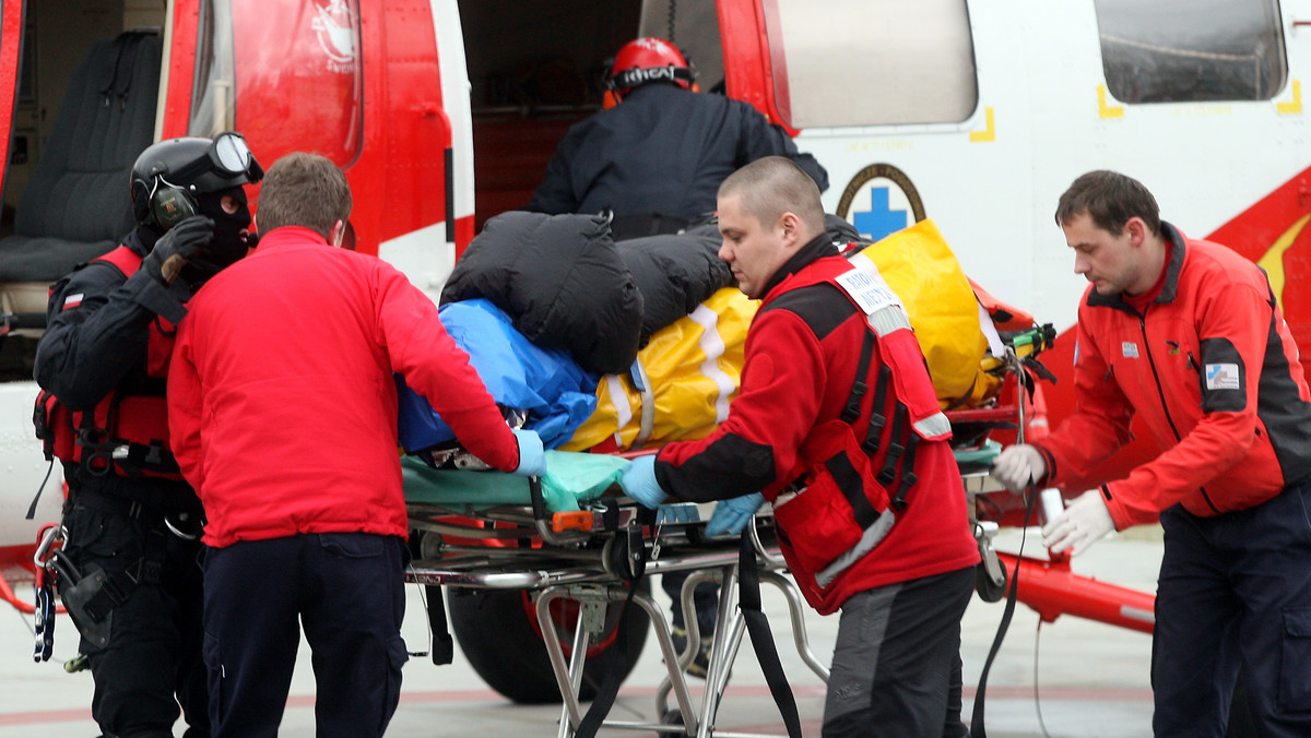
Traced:
MULTIPOLYGON (((683 499, 724 499, 763 492, 773 501, 791 482, 813 468, 806 459, 808 440, 821 426, 840 418, 851 397, 861 345, 868 332, 865 315, 856 309, 846 294, 829 283, 835 275, 852 269, 840 256, 832 254, 827 237, 805 246, 784 265, 775 283, 766 292, 760 311, 751 322, 746 340, 746 357, 739 395, 733 400, 728 419, 709 437, 665 446, 657 457, 656 475, 661 486, 683 499)), ((857 427, 868 427, 874 402, 874 387, 882 360, 874 346, 857 427)), ((916 353, 912 364, 899 380, 914 384, 922 380, 929 405, 937 412, 928 370, 916 353), (922 372, 915 376, 914 371, 922 372)), ((898 370, 906 367, 898 366, 898 370)), ((881 412, 889 412, 893 392, 881 412)), ((890 437, 891 421, 885 426, 890 437)), ((884 450, 888 442, 884 443, 884 450)), ((876 471, 884 459, 874 456, 876 471)), ((970 535, 965 510, 965 490, 960 471, 947 440, 923 440, 915 451, 914 472, 918 477, 907 495, 905 511, 888 537, 865 554, 829 587, 813 586, 814 572, 800 572, 805 564, 789 556, 806 599, 821 613, 834 612, 846 599, 873 587, 920 577, 954 572, 978 562, 978 548, 970 535)), ((889 490, 893 492, 893 490, 889 490)), ((802 492, 787 505, 808 505, 802 492)), ((817 502, 812 499, 810 502, 817 502)), ((844 505, 844 501, 836 502, 844 505)), ((779 528, 783 536, 797 536, 785 530, 783 507, 779 528)), ((851 507, 843 507, 850 514, 851 507)), ((815 541, 809 541, 814 544, 815 541)), ((792 540, 801 549, 802 541, 792 540), (801 544, 801 545, 797 545, 801 544)))

